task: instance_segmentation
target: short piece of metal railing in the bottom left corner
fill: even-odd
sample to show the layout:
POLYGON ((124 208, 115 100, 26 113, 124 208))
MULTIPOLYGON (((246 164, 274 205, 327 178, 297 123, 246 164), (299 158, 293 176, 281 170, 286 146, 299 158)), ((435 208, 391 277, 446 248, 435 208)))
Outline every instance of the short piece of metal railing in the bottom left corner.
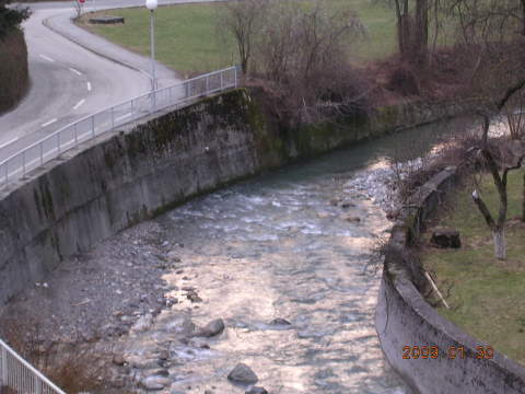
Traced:
POLYGON ((0 391, 20 394, 66 394, 0 339, 0 391))

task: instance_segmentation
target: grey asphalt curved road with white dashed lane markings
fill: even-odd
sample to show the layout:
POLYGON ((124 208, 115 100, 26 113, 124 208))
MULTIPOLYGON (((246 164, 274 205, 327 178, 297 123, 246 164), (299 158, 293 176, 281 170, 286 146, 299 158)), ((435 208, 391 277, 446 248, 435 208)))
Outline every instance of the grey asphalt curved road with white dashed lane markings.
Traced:
MULTIPOLYGON (((163 1, 170 3, 174 1, 163 1)), ((98 0, 97 9, 141 5, 138 0, 98 0)), ((90 4, 91 5, 91 4, 90 4)), ((90 10, 88 5, 88 10, 90 10)), ((18 107, 0 116, 0 160, 89 114, 148 92, 147 57, 77 27, 70 2, 30 4, 24 23, 31 89, 18 107)), ((159 85, 179 81, 156 66, 159 85)))

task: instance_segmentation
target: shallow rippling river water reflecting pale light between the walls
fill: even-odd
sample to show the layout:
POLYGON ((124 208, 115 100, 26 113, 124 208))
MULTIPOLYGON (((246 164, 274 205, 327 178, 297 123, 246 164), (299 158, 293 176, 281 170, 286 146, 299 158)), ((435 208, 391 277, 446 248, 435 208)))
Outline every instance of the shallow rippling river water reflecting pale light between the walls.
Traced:
POLYGON ((180 302, 137 336, 130 351, 141 354, 152 337, 167 346, 175 360, 172 393, 244 393, 225 379, 237 362, 270 393, 409 393, 374 328, 381 273, 369 264, 370 250, 388 235, 389 222, 359 192, 345 196, 346 209, 330 200, 353 176, 394 152, 421 154, 448 128, 420 127, 337 151, 156 219, 170 245, 184 245, 176 246, 184 271, 164 277, 180 302), (202 301, 187 300, 188 288, 202 301), (205 346, 166 341, 162 322, 180 313, 197 325, 221 317, 226 329, 205 346), (278 317, 291 325, 270 324, 278 317))

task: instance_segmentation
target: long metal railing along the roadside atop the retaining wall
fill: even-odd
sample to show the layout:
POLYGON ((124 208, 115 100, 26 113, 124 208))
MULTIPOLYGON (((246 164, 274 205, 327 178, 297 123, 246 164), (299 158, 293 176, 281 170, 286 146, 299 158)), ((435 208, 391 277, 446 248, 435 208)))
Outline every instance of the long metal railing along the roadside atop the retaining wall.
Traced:
POLYGON ((85 116, 1 161, 1 185, 24 177, 28 171, 118 126, 173 105, 184 105, 197 97, 235 88, 237 77, 237 67, 230 67, 148 92, 85 116))

